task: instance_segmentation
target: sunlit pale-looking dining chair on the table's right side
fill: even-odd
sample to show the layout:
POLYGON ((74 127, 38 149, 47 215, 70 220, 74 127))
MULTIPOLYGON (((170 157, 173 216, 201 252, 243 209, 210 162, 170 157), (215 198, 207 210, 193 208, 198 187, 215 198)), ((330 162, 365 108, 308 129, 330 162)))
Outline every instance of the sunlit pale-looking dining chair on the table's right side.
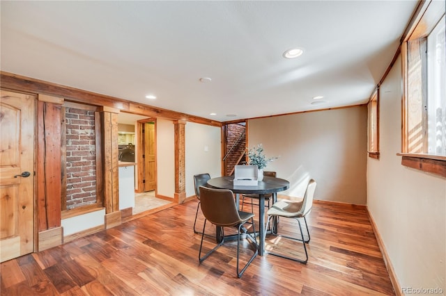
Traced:
MULTIPOLYGON (((275 256, 279 256, 282 258, 287 258, 293 261, 298 261, 300 263, 307 264, 308 261, 308 253, 307 253, 307 247, 305 246, 305 243, 308 243, 310 240, 309 236, 309 230, 308 230, 308 224, 306 216, 312 211, 313 206, 313 197, 314 197, 314 191, 316 190, 316 181, 314 179, 310 179, 307 185, 307 190, 305 190, 305 195, 302 198, 298 197, 286 197, 282 195, 283 197, 286 197, 286 199, 280 199, 278 202, 272 205, 272 207, 268 210, 268 222, 266 222, 266 229, 268 229, 268 224, 270 224, 270 220, 274 220, 272 222, 272 234, 275 236, 279 236, 281 238, 285 238, 286 240, 291 241, 300 241, 302 242, 304 246, 305 251, 305 260, 302 260, 300 258, 295 258, 291 256, 286 256, 283 253, 278 252, 268 252, 268 254, 272 254, 275 256), (292 236, 285 236, 281 235, 278 232, 278 217, 283 218, 289 218, 289 219, 295 219, 298 221, 300 235, 296 237, 292 236), (300 224, 300 220, 303 220, 305 222, 305 227, 307 228, 307 236, 308 238, 305 239, 304 233, 302 231, 302 225, 300 224)), ((282 219, 281 219, 282 220, 282 219)), ((265 231, 266 233, 266 231, 265 231)), ((279 251, 279 249, 277 249, 279 251)), ((284 250, 286 252, 286 250, 284 250)), ((293 251, 292 251, 293 252, 293 251)))

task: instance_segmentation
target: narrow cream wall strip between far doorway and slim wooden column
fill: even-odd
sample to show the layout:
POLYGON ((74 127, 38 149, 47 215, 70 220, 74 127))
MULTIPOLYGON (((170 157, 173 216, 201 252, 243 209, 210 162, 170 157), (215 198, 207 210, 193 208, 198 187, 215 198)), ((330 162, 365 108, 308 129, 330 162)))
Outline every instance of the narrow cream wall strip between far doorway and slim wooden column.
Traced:
POLYGON ((157 195, 174 198, 175 193, 175 138, 174 123, 156 121, 157 195))

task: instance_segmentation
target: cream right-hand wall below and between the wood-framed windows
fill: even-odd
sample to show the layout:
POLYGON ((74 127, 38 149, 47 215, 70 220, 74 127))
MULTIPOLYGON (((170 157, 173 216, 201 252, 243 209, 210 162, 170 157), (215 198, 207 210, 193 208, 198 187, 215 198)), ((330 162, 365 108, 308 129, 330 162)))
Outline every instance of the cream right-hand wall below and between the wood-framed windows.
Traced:
POLYGON ((380 159, 368 158, 367 206, 401 288, 446 292, 446 179, 401 165, 401 58, 380 87, 380 159))

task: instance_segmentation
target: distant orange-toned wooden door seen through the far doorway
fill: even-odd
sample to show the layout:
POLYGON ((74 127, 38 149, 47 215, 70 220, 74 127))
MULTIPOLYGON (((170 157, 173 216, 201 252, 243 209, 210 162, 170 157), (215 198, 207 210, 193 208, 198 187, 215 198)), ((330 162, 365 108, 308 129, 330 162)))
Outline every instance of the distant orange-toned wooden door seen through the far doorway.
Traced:
POLYGON ((144 191, 156 189, 155 122, 144 124, 144 191))

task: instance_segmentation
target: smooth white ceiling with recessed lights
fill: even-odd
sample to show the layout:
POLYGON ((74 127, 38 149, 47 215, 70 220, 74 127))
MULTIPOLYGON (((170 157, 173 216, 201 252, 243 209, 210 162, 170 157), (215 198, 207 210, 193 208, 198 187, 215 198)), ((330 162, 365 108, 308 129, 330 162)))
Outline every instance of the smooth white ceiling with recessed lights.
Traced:
POLYGON ((362 104, 390 65, 416 6, 1 1, 0 67, 221 122, 362 104), (304 54, 283 58, 293 47, 304 54), (200 83, 201 77, 212 81, 200 83), (312 105, 318 95, 325 104, 312 105))

